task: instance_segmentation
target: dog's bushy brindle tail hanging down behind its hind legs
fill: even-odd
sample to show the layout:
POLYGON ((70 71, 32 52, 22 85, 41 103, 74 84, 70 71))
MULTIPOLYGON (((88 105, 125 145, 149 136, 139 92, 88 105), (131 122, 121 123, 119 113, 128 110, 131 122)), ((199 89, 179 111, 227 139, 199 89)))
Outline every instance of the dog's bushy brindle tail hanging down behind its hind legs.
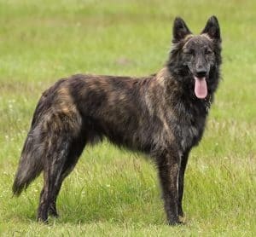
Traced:
POLYGON ((19 196, 23 189, 41 173, 43 170, 43 147, 39 142, 37 130, 31 130, 26 137, 18 170, 13 184, 13 193, 19 196), (40 146, 41 145, 41 146, 40 146))

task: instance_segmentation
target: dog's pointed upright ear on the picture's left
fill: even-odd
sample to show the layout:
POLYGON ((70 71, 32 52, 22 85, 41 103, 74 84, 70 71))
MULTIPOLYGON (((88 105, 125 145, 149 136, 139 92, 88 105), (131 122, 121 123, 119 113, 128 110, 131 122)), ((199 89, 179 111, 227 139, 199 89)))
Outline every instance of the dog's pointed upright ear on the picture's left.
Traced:
POLYGON ((189 28, 184 22, 184 20, 182 20, 180 17, 176 17, 173 23, 172 34, 173 34, 172 42, 177 43, 183 38, 185 38, 187 35, 192 33, 189 31, 189 28))

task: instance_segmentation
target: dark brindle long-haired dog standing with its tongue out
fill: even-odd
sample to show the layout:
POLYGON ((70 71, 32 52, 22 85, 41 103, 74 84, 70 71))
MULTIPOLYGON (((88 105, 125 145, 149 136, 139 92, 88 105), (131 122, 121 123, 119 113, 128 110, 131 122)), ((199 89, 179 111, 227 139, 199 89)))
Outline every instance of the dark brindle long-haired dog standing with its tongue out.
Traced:
POLYGON ((166 65, 144 78, 73 75, 44 91, 21 152, 13 193, 44 172, 38 220, 58 216, 56 199, 86 144, 104 137, 148 154, 158 170, 167 222, 182 223, 183 177, 203 135, 221 66, 218 20, 200 35, 177 17, 166 65))

